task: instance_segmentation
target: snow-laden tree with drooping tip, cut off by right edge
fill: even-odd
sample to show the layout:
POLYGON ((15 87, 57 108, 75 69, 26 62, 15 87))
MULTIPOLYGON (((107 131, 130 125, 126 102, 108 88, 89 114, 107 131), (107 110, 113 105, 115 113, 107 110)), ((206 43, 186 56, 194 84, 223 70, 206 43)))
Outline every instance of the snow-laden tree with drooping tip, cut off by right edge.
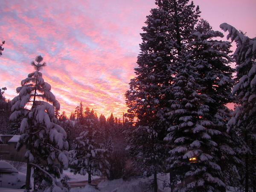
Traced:
POLYGON ((233 54, 237 77, 233 94, 237 105, 228 126, 243 144, 240 154, 244 154, 244 188, 248 192, 250 187, 256 188, 256 38, 248 38, 227 23, 220 27, 228 31, 227 39, 235 41, 237 47, 233 54))

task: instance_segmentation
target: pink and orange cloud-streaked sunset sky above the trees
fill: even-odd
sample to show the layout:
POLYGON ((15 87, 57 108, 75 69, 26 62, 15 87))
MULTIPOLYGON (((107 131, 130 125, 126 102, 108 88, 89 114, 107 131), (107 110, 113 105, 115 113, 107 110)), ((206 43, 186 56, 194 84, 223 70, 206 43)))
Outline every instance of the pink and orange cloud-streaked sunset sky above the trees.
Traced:
MULTIPOLYGON (((33 71, 42 55, 43 78, 61 111, 80 102, 98 114, 126 112, 125 91, 134 77, 140 32, 154 0, 0 0, 0 87, 5 96, 33 71)), ((256 0, 194 0, 214 30, 229 23, 256 36, 256 0)), ((227 34, 226 34, 227 35, 227 34)), ((224 38, 226 40, 226 38, 224 38)), ((234 49, 234 48, 233 48, 234 49)))

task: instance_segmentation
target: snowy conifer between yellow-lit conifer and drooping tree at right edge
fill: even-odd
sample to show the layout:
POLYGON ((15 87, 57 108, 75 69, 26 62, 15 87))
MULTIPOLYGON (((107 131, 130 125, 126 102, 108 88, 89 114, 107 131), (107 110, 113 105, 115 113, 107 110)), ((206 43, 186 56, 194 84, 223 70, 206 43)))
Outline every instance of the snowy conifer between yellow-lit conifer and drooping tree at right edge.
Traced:
MULTIPOLYGON (((209 23, 202 19, 191 35, 189 48, 192 50, 192 64, 198 73, 197 81, 201 85, 198 92, 206 94, 209 98, 205 103, 209 106, 209 115, 205 118, 213 123, 211 129, 217 130, 208 134, 218 144, 218 153, 215 153, 218 154, 218 165, 227 177, 227 183, 231 184, 230 182, 237 178, 237 172, 233 173, 233 178, 230 177, 233 166, 239 163, 239 160, 235 156, 236 145, 227 134, 227 122, 231 111, 225 105, 233 100, 231 91, 234 70, 230 67, 233 61, 229 56, 230 42, 218 40, 223 37, 221 32, 213 31, 209 23)), ((222 180, 224 181, 224 178, 222 180)))

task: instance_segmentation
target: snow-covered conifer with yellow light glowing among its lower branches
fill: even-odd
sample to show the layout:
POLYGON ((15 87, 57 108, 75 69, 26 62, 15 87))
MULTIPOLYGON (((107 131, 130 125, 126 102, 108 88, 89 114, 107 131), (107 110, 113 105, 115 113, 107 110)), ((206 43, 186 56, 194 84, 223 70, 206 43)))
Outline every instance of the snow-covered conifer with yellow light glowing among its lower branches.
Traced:
POLYGON ((169 112, 172 125, 165 138, 169 142, 171 187, 174 192, 225 190, 221 168, 216 157, 217 143, 211 135, 213 122, 208 120, 211 99, 202 94, 198 84, 197 69, 185 48, 180 51, 179 67, 174 79, 174 100, 169 112), (181 183, 180 183, 181 181, 181 183))

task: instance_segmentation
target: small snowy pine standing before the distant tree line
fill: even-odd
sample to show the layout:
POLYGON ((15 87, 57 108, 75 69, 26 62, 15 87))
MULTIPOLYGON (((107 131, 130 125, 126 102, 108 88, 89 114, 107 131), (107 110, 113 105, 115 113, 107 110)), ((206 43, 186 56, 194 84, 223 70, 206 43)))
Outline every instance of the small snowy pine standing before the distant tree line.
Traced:
POLYGON ((81 175, 88 174, 88 183, 91 175, 107 175, 108 161, 107 150, 100 141, 99 120, 92 111, 85 117, 84 130, 76 138, 75 148, 70 151, 71 171, 81 175))

